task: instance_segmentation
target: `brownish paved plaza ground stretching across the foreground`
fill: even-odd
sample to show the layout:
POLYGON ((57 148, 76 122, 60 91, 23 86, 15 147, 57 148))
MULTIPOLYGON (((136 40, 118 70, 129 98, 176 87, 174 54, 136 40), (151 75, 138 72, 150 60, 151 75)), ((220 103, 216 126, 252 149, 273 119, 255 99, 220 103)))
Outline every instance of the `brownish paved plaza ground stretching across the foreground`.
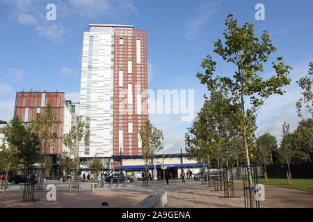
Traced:
MULTIPOLYGON (((223 198, 223 191, 213 191, 213 187, 202 185, 198 181, 171 180, 169 185, 163 181, 150 182, 149 187, 143 187, 142 181, 131 182, 127 187, 96 188, 93 192, 88 182, 81 182, 79 192, 68 190, 68 184, 61 185, 57 181, 56 201, 47 201, 45 191, 36 191, 38 201, 22 203, 22 193, 19 185, 10 185, 6 194, 0 193, 0 207, 56 207, 56 208, 125 208, 133 207, 144 198, 159 189, 168 191, 167 208, 242 208, 244 207, 242 182, 235 181, 236 198, 223 198), (103 206, 102 203, 109 203, 103 206)), ((285 189, 266 185, 266 200, 261 201, 261 207, 313 207, 313 194, 294 189, 285 189)))

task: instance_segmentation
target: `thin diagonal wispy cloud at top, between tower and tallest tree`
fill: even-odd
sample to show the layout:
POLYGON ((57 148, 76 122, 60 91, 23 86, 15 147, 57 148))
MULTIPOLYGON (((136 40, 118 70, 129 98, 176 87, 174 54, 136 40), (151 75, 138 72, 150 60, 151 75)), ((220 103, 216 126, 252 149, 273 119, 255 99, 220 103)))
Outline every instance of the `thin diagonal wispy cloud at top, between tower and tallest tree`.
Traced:
POLYGON ((186 37, 188 39, 194 40, 200 29, 210 22, 211 17, 216 11, 220 8, 220 1, 210 1, 200 4, 197 8, 198 17, 191 19, 187 22, 186 28, 186 37))

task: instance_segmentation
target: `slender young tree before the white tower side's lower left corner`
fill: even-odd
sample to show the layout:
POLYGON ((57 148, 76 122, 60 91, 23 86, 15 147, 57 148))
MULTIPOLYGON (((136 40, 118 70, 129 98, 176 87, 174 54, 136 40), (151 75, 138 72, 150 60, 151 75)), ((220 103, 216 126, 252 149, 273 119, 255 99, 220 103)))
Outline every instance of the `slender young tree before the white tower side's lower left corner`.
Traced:
POLYGON ((85 144, 89 144, 90 141, 89 130, 85 130, 85 121, 83 117, 76 117, 76 121, 72 126, 69 133, 63 135, 63 144, 69 148, 68 154, 74 157, 74 166, 77 169, 75 171, 75 176, 78 176, 79 169, 79 143, 84 141, 85 144))

